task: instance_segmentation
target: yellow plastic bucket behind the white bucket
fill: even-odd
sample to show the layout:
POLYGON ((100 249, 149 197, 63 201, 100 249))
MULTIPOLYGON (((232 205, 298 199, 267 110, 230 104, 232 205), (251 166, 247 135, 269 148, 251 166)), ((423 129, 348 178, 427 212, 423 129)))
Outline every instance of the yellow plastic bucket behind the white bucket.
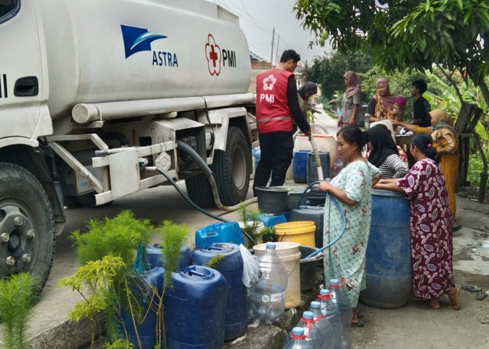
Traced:
POLYGON ((300 245, 316 247, 314 221, 293 221, 276 224, 274 227, 278 242, 297 242, 300 245))

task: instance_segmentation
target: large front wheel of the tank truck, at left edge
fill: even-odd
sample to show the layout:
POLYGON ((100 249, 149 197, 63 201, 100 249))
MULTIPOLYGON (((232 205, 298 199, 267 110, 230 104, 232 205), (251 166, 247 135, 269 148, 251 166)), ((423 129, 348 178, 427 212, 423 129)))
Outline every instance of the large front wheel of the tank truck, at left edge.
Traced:
POLYGON ((0 277, 30 272, 43 286, 53 256, 54 217, 43 186, 24 168, 0 163, 0 277))

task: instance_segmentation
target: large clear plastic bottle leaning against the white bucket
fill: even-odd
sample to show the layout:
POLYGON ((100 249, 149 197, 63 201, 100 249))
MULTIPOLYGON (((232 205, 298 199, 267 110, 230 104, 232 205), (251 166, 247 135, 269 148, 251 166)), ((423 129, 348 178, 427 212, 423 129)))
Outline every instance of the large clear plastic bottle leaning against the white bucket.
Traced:
POLYGON ((288 275, 275 247, 275 242, 267 242, 265 253, 258 258, 261 278, 248 290, 248 313, 253 322, 271 324, 284 315, 288 275))

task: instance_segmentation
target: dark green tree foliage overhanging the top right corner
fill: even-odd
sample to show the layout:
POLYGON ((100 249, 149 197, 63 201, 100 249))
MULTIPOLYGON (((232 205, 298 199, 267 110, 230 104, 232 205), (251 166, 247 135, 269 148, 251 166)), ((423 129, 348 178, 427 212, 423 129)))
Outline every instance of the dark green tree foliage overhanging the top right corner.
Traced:
POLYGON ((489 105, 487 0, 297 0, 294 10, 316 43, 329 39, 343 53, 369 47, 389 71, 458 69, 489 105))

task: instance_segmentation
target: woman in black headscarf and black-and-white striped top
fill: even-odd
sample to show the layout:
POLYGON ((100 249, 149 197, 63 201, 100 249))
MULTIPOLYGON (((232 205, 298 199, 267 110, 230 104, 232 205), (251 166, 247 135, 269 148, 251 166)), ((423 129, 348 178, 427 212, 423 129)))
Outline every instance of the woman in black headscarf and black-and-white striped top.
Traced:
POLYGON ((402 178, 409 168, 402 161, 391 131, 384 125, 377 125, 367 131, 367 143, 371 149, 368 161, 379 169, 381 178, 402 178))

